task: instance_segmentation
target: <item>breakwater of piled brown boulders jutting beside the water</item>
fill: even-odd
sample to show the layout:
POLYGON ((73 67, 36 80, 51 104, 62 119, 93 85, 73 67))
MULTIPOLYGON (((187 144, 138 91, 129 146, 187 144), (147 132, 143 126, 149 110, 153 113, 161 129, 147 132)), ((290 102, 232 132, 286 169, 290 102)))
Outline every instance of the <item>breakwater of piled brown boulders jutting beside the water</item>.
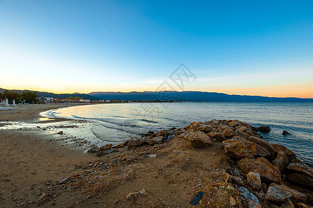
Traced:
MULTIPOLYGON (((101 156, 118 148, 132 150, 167 142, 173 145, 173 141, 181 142, 181 149, 195 149, 202 153, 209 146, 222 147, 226 164, 218 165, 214 173, 208 173, 211 175, 208 187, 218 190, 214 192, 215 196, 223 196, 223 200, 227 198, 226 204, 223 201, 226 207, 312 206, 312 168, 296 159, 296 155, 285 146, 271 144, 258 134, 258 131, 270 130, 267 126, 256 128, 238 120, 212 120, 157 133, 147 132, 118 146, 93 147, 90 151, 101 156), (225 191, 226 195, 223 195, 225 191)), ((210 194, 212 196, 213 192, 199 191, 190 204, 201 204, 210 194)), ((216 200, 217 204, 222 203, 222 199, 216 200)))

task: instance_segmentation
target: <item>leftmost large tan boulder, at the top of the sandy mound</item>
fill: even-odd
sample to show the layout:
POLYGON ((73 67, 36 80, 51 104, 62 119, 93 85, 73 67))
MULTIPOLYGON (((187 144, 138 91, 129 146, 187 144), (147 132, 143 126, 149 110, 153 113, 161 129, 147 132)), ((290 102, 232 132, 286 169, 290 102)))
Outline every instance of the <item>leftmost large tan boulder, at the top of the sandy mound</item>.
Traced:
POLYGON ((179 135, 179 137, 188 141, 188 144, 193 148, 202 148, 204 146, 210 146, 212 144, 210 137, 204 134, 204 132, 191 132, 188 130, 179 135))

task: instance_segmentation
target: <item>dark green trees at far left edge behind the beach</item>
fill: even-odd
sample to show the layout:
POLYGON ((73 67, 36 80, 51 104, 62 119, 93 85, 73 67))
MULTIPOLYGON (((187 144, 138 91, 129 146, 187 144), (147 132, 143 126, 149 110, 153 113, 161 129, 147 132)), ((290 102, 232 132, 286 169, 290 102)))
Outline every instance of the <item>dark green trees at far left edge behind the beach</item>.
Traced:
POLYGON ((7 89, 1 94, 0 97, 5 99, 8 98, 8 101, 12 103, 15 100, 17 103, 20 101, 25 101, 26 103, 38 103, 38 93, 37 92, 23 92, 19 94, 17 92, 8 91, 7 89))

